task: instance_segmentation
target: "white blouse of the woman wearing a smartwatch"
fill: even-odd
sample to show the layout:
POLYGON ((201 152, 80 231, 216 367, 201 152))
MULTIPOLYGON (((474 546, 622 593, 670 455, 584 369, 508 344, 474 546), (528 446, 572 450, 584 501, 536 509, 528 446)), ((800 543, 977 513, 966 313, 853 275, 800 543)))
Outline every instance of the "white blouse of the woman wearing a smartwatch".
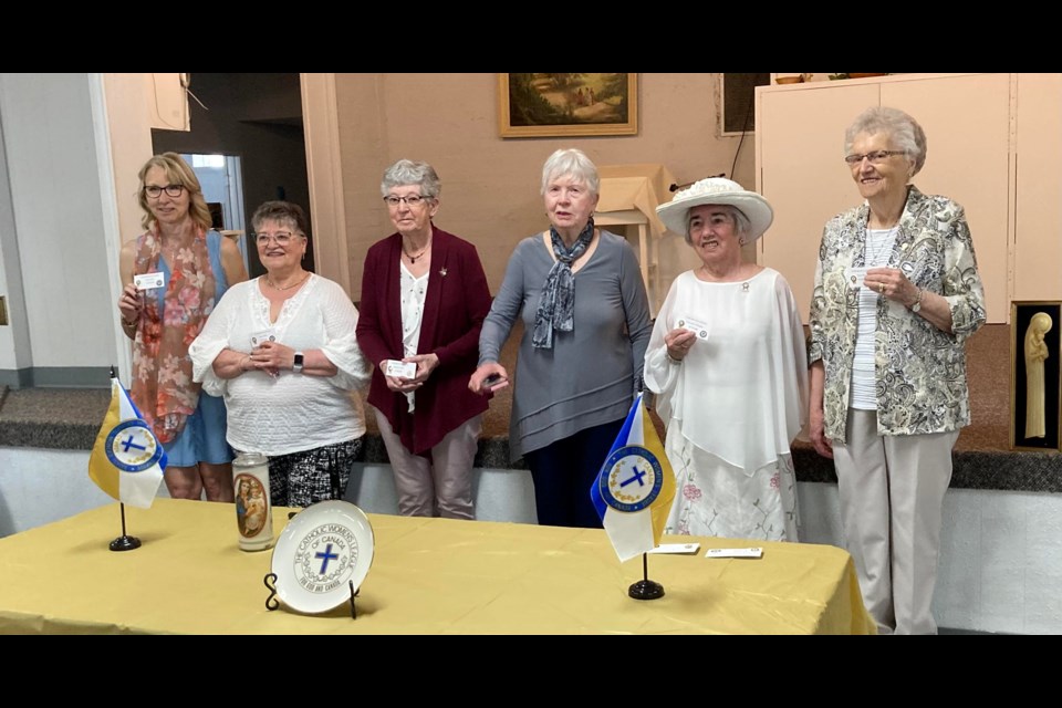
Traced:
POLYGON ((372 367, 357 346, 357 309, 343 289, 320 275, 284 302, 270 322, 269 300, 258 279, 233 285, 218 302, 188 350, 192 377, 202 389, 225 396, 228 441, 237 450, 268 456, 301 452, 353 440, 365 434, 365 414, 354 393, 364 388, 372 367), (295 351, 321 350, 339 373, 308 376, 282 371, 246 372, 219 378, 214 360, 225 348, 251 352, 251 335, 272 331, 295 351))

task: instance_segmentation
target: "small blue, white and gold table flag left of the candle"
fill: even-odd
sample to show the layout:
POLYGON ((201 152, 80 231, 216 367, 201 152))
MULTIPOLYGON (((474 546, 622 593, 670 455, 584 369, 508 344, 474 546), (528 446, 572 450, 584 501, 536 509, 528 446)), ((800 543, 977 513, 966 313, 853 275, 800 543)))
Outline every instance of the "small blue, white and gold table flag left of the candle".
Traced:
POLYGON ((149 509, 166 468, 166 450, 125 387, 111 378, 111 406, 88 456, 88 477, 131 507, 149 509))

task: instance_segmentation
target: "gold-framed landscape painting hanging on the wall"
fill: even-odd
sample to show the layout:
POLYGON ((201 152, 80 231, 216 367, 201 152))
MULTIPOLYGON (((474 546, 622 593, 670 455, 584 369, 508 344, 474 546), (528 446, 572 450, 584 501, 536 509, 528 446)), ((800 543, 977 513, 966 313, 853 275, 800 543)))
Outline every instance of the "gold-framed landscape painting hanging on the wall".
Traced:
POLYGON ((637 135, 637 74, 498 74, 498 133, 637 135))

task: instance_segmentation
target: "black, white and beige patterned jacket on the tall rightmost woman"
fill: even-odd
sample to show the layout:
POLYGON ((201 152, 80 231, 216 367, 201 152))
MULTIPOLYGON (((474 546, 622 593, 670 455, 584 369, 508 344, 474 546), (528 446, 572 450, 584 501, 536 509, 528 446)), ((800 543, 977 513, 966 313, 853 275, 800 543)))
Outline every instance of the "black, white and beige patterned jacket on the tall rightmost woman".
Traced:
MULTIPOLYGON (((811 300, 808 362, 823 361, 825 435, 845 439, 848 388, 858 320, 866 221, 864 202, 831 219, 822 232, 811 300)), ((916 435, 970 423, 962 345, 985 323, 985 290, 962 207, 909 187, 888 259, 912 283, 944 295, 952 332, 944 332, 899 302, 879 296, 874 337, 877 431, 916 435)))

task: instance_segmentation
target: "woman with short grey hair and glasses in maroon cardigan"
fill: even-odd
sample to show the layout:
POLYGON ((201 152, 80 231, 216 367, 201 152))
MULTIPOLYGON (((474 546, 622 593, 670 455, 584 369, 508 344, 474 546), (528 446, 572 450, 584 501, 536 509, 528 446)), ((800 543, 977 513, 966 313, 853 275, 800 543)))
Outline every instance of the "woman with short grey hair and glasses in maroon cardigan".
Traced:
POLYGON ((381 191, 397 229, 365 257, 357 343, 375 365, 374 406, 407 517, 472 518, 472 460, 487 399, 468 389, 490 310, 476 247, 431 223, 439 178, 400 159, 381 191), (399 372, 397 364, 413 364, 399 372))

